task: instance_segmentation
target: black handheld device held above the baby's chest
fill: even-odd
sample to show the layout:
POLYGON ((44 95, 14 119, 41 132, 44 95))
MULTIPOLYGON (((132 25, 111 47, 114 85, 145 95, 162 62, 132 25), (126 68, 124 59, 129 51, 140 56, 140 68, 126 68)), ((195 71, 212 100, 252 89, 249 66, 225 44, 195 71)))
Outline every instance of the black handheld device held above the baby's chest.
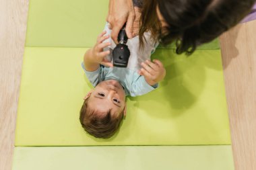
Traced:
POLYGON ((119 44, 113 50, 113 65, 115 67, 127 67, 130 50, 126 45, 128 37, 125 32, 125 26, 120 30, 117 40, 119 44))

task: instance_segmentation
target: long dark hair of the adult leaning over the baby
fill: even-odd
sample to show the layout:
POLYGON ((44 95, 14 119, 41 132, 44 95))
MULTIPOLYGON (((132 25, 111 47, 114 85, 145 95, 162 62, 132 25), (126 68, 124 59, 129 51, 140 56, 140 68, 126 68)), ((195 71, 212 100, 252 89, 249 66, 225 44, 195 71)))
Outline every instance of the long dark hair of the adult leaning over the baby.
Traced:
MULTIPOLYGON (((200 44, 211 42, 238 24, 249 13, 255 0, 157 0, 154 3, 157 3, 168 24, 160 34, 162 44, 176 42, 177 54, 191 54, 200 44)), ((146 15, 142 10, 142 25, 147 22, 144 19, 146 15)), ((149 24, 146 26, 149 27, 149 24)), ((154 23, 150 27, 154 27, 154 23)), ((139 32, 139 36, 143 33, 139 32)))

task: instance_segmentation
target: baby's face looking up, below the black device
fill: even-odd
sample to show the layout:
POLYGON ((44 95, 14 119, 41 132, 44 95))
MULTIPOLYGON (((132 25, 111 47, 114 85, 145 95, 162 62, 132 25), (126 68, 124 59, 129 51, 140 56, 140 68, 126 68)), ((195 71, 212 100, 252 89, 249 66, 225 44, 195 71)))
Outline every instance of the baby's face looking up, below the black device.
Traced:
POLYGON ((110 110, 111 115, 120 114, 125 109, 125 90, 119 81, 102 81, 92 91, 88 102, 98 113, 110 110))

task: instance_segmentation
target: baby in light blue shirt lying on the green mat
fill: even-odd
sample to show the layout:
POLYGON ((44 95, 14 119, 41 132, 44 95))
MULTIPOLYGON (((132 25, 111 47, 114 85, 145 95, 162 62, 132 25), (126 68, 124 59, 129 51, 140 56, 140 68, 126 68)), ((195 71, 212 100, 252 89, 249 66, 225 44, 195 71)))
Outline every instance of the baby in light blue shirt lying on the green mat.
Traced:
POLYGON ((94 47, 84 55, 82 67, 95 88, 84 97, 79 120, 92 136, 113 136, 126 115, 125 96, 149 93, 164 79, 166 71, 162 62, 150 61, 158 43, 151 40, 150 33, 145 34, 145 39, 144 48, 139 48, 138 36, 128 40, 131 55, 127 68, 113 67, 112 62, 106 59, 116 46, 107 25, 94 47))

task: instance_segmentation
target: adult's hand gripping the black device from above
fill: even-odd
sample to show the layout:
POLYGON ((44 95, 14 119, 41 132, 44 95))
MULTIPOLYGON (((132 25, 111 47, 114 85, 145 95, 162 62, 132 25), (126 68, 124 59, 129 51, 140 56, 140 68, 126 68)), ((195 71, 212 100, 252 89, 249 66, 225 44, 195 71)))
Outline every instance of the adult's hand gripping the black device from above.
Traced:
POLYGON ((135 11, 132 0, 109 0, 108 16, 106 21, 112 29, 111 38, 117 44, 117 36, 126 22, 125 32, 128 38, 133 37, 133 22, 135 19, 135 11))

